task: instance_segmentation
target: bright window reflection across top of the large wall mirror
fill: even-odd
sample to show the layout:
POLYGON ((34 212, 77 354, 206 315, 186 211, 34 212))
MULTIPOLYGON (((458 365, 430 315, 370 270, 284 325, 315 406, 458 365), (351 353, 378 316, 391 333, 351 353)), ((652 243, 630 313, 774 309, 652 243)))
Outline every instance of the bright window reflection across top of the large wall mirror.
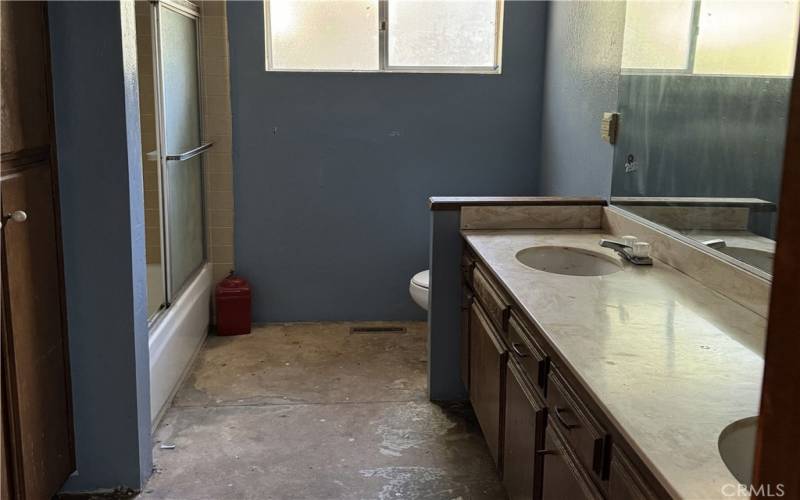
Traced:
POLYGON ((798 0, 630 1, 624 73, 791 77, 798 0))

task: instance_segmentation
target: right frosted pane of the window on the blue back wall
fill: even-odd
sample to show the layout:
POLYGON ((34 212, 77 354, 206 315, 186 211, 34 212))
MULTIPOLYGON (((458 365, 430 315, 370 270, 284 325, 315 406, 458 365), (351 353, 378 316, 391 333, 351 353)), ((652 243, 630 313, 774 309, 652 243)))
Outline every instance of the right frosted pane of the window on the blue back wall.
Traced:
POLYGON ((389 66, 496 66, 495 0, 392 0, 389 66))

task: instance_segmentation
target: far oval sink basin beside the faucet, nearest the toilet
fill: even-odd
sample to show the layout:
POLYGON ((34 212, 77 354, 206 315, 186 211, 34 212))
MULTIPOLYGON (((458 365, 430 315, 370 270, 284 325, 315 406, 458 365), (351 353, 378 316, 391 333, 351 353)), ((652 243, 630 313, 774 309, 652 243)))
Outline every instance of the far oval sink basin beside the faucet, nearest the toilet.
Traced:
POLYGON ((530 247, 517 252, 517 260, 538 271, 569 276, 602 276, 622 270, 610 257, 572 247, 530 247))

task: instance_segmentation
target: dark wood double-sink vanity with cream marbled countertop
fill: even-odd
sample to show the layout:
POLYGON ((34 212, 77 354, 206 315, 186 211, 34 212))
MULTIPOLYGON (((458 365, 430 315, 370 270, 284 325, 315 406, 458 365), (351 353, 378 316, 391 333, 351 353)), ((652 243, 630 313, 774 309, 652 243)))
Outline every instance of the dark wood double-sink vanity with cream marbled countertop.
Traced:
POLYGON ((724 498, 748 482, 752 446, 724 441, 755 429, 758 307, 684 274, 713 270, 707 254, 684 272, 659 259, 680 242, 652 241, 652 266, 600 247, 649 234, 614 208, 531 210, 461 213, 461 378, 509 497, 724 498))

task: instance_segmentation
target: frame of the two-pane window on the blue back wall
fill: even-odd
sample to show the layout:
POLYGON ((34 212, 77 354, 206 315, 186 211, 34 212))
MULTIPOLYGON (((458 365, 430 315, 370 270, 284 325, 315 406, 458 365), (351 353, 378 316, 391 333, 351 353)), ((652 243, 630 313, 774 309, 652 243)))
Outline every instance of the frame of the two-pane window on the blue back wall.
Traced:
POLYGON ((495 1, 494 66, 392 66, 389 64, 389 1, 378 0, 378 68, 377 69, 300 69, 272 67, 272 34, 270 32, 270 0, 263 0, 264 69, 276 73, 434 73, 434 74, 502 74, 503 21, 505 0, 495 1))

